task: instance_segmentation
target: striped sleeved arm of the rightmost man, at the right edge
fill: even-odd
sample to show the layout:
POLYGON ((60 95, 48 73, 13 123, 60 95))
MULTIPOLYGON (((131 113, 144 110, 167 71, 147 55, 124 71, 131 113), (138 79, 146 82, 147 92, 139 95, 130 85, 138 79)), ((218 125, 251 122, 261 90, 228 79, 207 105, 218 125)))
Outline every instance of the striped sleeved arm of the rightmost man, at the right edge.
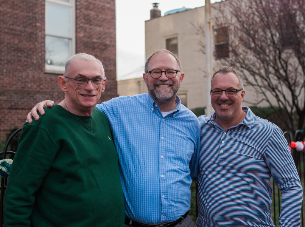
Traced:
POLYGON ((269 145, 265 161, 282 193, 280 226, 299 227, 303 189, 287 141, 279 129, 274 131, 269 145))

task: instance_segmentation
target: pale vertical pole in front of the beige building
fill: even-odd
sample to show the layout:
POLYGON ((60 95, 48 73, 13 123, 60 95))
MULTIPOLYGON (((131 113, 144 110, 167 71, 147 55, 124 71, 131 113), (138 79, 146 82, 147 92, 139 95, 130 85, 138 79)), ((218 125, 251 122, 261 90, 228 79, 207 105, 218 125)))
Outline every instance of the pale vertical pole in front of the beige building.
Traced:
POLYGON ((206 111, 205 115, 212 114, 210 80, 212 77, 212 23, 211 23, 211 2, 205 0, 205 35, 206 35, 206 111))

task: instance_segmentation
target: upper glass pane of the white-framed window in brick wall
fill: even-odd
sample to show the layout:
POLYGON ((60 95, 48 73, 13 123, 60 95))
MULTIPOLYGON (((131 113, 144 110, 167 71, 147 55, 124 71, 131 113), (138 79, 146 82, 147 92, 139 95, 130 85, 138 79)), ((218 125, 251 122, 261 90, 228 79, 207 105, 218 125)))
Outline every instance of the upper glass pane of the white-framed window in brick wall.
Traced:
POLYGON ((47 34, 70 37, 70 9, 47 4, 45 31, 47 34))

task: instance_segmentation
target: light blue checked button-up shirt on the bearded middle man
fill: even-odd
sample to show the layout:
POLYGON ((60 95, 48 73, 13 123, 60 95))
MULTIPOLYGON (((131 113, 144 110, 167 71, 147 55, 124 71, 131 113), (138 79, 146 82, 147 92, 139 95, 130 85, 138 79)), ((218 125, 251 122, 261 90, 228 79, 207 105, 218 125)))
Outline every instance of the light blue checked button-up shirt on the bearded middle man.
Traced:
POLYGON ((179 97, 176 103, 174 112, 165 117, 148 93, 96 106, 112 127, 126 215, 138 222, 171 222, 190 208, 200 125, 179 97))

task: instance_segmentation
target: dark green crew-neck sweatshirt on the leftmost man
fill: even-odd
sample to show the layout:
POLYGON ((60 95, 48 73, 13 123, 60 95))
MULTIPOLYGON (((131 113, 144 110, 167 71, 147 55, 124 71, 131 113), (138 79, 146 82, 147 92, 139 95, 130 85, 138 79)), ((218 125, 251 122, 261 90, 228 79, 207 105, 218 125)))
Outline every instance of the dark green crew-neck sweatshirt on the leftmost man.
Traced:
POLYGON ((24 124, 5 192, 5 227, 124 226, 117 152, 105 114, 59 105, 24 124))

